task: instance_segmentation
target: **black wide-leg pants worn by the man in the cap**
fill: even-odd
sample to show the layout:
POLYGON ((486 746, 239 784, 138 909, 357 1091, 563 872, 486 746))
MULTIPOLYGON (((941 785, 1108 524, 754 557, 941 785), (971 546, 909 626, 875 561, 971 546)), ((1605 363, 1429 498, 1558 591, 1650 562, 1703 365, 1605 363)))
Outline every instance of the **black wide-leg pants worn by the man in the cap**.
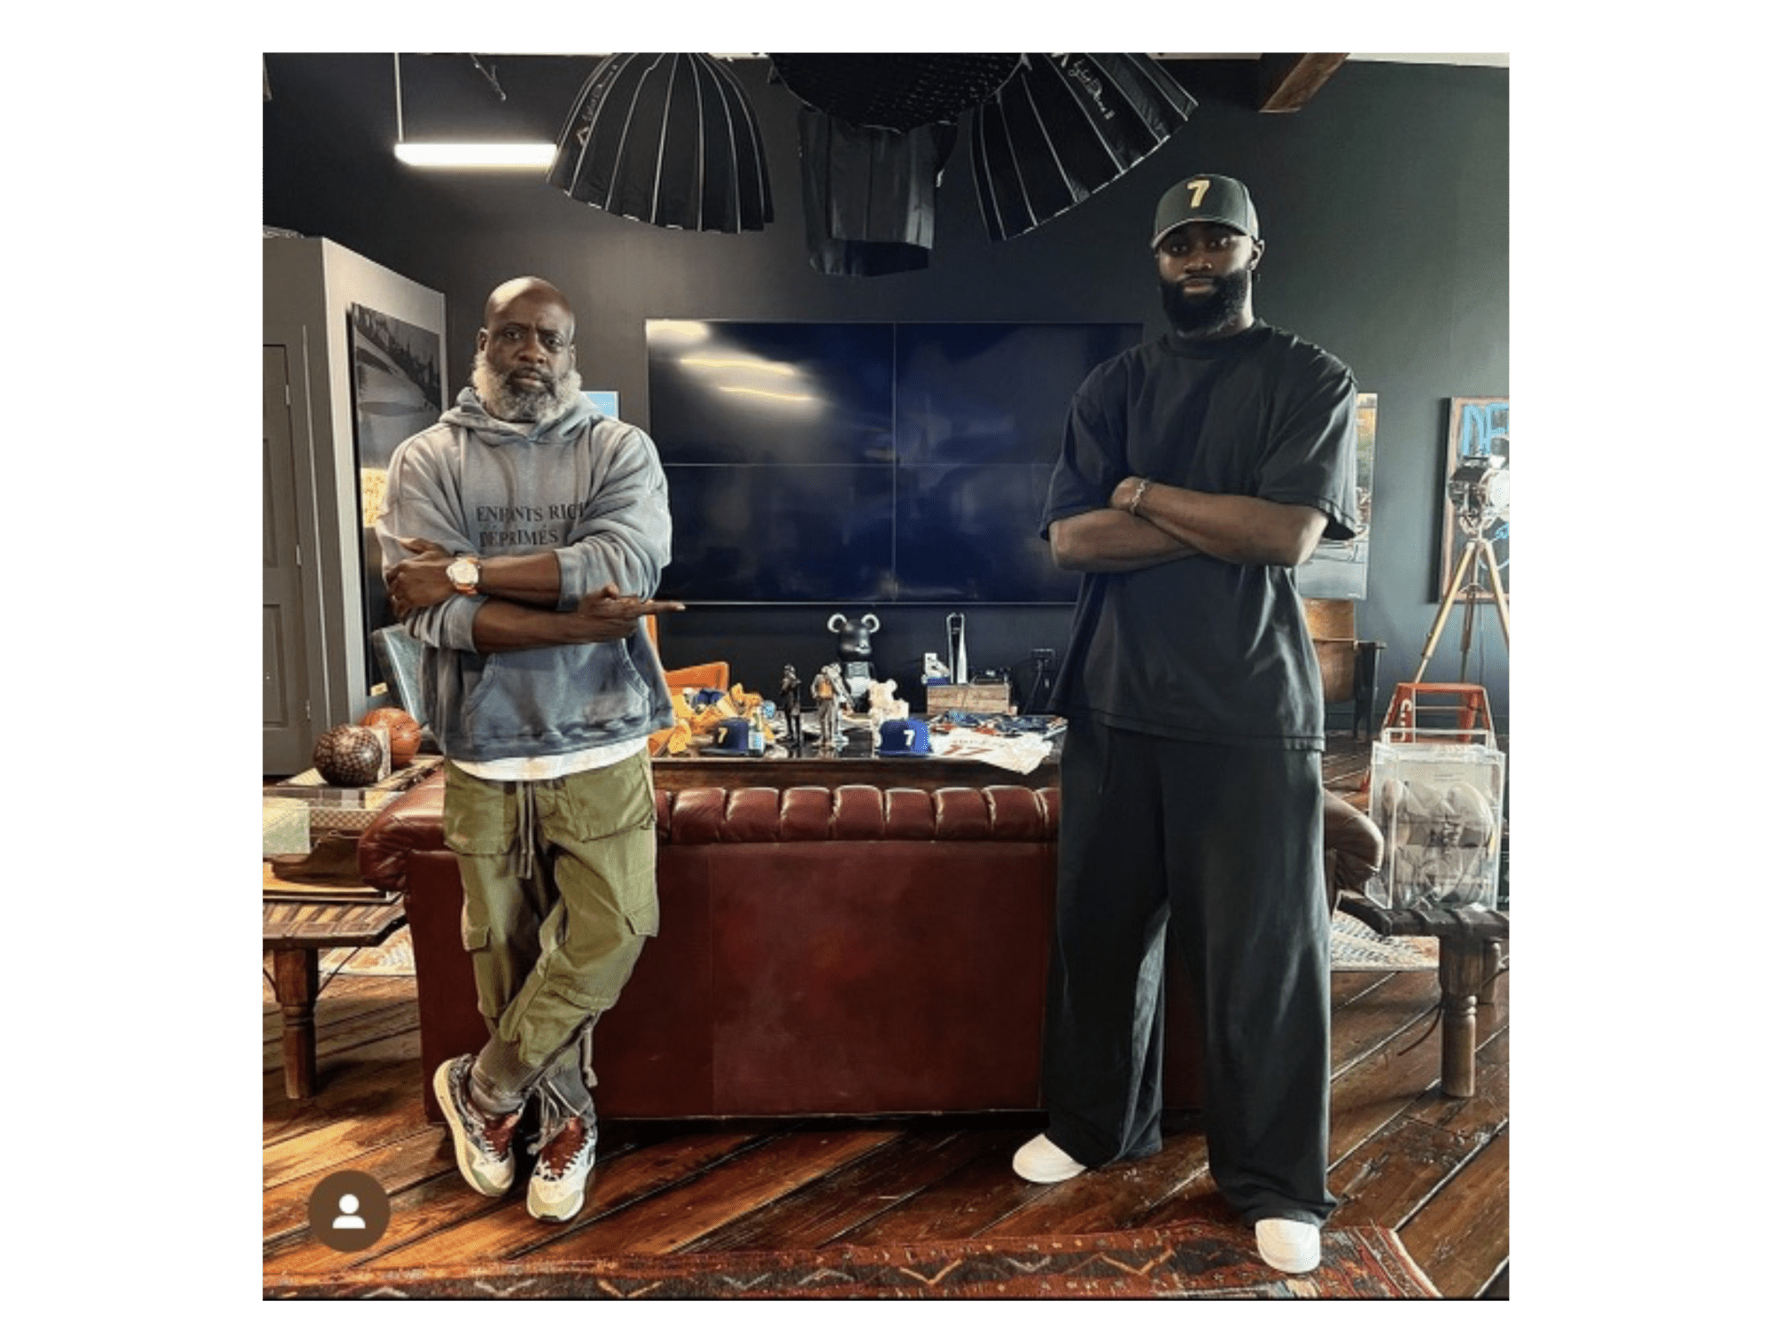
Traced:
POLYGON ((1060 789, 1047 1136, 1092 1168, 1161 1148, 1173 929, 1203 1026, 1214 1182, 1251 1221, 1322 1223, 1334 1198, 1320 755, 1072 725, 1060 789))

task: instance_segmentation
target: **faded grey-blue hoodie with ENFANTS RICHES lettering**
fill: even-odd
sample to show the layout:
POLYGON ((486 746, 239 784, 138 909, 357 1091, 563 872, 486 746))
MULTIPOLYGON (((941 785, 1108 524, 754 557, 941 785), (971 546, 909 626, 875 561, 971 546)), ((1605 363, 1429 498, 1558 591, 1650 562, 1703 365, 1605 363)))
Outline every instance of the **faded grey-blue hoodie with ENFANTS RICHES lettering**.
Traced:
MULTIPOLYGON (((657 448, 587 399, 542 429, 486 413, 462 388, 443 418, 400 443, 376 523, 381 565, 422 537, 454 553, 560 558, 560 610, 613 581, 652 595, 670 562, 670 507, 657 448)), ((551 757, 641 737, 672 721, 664 670, 649 636, 482 656, 473 617, 486 601, 454 595, 406 617, 425 645, 424 703, 447 757, 486 762, 551 757)))

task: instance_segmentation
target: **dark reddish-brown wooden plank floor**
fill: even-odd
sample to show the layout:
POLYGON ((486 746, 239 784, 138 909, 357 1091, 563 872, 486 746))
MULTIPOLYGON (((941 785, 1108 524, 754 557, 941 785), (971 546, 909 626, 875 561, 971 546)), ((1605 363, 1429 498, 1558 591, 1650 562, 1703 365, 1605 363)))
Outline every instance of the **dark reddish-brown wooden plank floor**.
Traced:
MULTIPOLYGON (((1439 1095, 1432 973, 1334 978, 1331 1189, 1336 1223, 1402 1233, 1448 1297, 1508 1295, 1508 975, 1480 1008, 1476 1095, 1439 1095)), ((1038 1115, 606 1122, 585 1210, 528 1217, 519 1185, 486 1200, 424 1120, 411 978, 340 975, 323 991, 319 1092, 284 1097, 278 1014, 264 992, 264 1271, 411 1269, 620 1251, 808 1249, 943 1237, 1109 1232, 1228 1216, 1198 1116, 1152 1159, 1042 1187, 1008 1166, 1038 1115), (386 1235, 340 1255, 312 1240, 307 1200, 330 1171, 376 1177, 386 1235)))

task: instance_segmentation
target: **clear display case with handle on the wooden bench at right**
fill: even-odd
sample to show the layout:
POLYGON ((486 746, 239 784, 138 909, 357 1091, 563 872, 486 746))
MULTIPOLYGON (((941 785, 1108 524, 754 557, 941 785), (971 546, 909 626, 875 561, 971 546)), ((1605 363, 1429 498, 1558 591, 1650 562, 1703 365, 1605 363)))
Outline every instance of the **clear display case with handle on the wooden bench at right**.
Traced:
POLYGON ((1387 728, 1372 746, 1384 909, 1494 909, 1508 755, 1488 730, 1387 728))

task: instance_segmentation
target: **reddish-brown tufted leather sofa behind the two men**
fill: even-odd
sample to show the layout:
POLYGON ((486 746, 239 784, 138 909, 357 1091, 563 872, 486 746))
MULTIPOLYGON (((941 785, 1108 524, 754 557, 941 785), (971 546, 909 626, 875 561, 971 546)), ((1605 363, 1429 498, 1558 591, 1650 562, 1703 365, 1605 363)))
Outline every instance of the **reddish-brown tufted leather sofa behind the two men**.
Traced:
MULTIPOLYGON (((1329 796, 1331 895, 1379 863, 1329 796), (1364 865, 1364 867, 1363 867, 1364 865)), ((363 833, 406 893, 431 1072, 486 1042, 461 944, 443 778, 363 833)), ((597 1024, 610 1118, 973 1113, 1040 1106, 1058 790, 688 789, 657 794, 659 936, 597 1024)), ((1196 1021, 1168 983, 1164 1100, 1200 1102, 1196 1021)))

